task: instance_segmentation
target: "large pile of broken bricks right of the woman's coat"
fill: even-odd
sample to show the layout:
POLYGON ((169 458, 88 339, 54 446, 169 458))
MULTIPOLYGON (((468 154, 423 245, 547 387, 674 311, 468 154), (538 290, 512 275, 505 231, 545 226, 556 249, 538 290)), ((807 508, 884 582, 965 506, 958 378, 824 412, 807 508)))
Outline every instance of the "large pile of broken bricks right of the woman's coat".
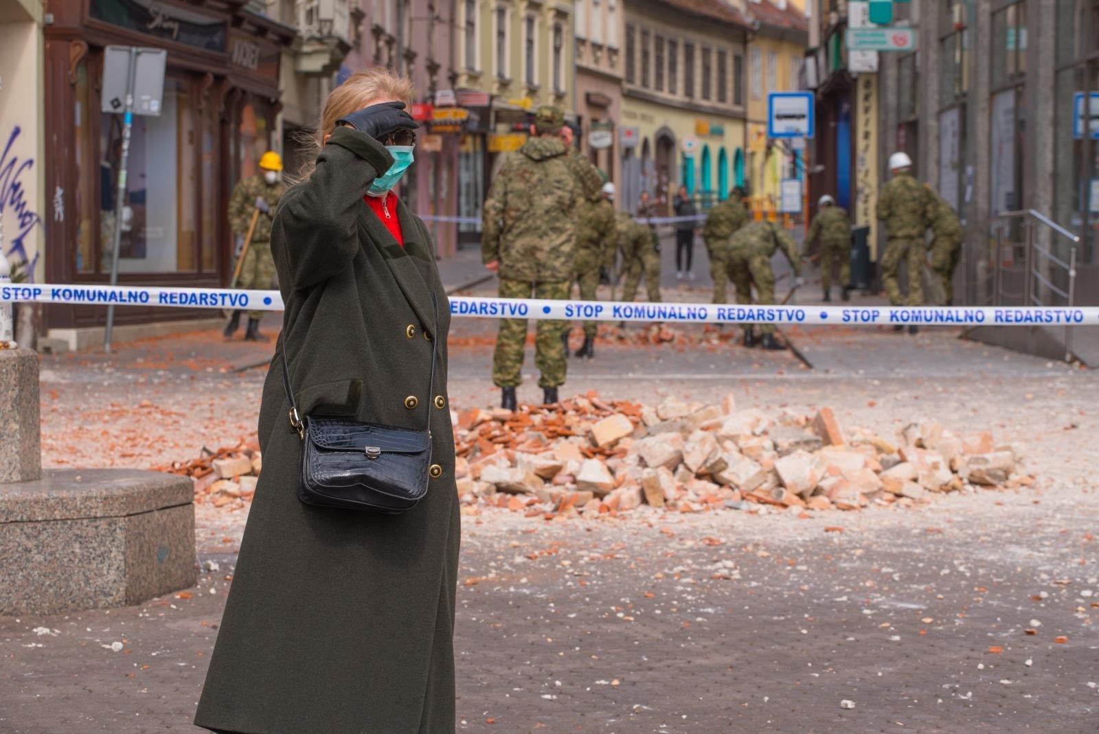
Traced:
POLYGON ((642 504, 676 512, 763 505, 858 510, 912 507, 937 493, 1022 487, 1019 445, 958 436, 920 421, 887 440, 844 432, 833 411, 771 418, 668 398, 659 407, 595 393, 519 412, 456 415, 463 512, 488 504, 547 519, 619 513, 642 504))

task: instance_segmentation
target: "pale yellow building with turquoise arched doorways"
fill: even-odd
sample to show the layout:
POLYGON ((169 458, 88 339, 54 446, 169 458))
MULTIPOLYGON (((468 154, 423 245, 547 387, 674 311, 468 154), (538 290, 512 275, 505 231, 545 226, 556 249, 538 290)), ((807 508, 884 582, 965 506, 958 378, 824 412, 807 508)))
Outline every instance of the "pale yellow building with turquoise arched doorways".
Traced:
POLYGON ((748 19, 720 0, 624 10, 620 200, 670 199, 680 184, 703 202, 726 197, 743 178, 748 19))

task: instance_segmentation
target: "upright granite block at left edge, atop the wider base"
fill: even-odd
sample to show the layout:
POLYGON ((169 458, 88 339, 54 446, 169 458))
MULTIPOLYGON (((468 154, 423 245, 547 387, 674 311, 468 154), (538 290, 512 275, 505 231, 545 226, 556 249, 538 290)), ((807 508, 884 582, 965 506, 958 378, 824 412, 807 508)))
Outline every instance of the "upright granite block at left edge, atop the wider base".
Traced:
POLYGON ((41 476, 38 355, 0 349, 0 482, 41 476))

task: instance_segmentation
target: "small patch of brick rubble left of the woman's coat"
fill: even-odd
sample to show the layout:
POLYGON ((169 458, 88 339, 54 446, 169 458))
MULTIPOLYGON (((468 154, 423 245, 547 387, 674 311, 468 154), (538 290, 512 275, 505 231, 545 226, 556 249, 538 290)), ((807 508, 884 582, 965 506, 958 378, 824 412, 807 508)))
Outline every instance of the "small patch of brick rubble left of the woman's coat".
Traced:
POLYGON ((157 467, 155 470, 190 477, 195 481, 197 504, 209 503, 215 508, 240 510, 252 502, 260 469, 263 457, 258 447, 241 442, 217 452, 203 448, 201 458, 176 461, 169 467, 157 467))

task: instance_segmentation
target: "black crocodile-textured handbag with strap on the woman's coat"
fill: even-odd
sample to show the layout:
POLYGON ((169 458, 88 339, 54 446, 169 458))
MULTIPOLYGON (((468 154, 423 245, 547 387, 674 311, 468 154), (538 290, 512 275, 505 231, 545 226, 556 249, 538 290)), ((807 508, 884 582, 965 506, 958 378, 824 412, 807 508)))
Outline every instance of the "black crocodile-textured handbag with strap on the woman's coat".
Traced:
MULTIPOLYGON (((439 353, 439 302, 431 347, 430 397, 435 389, 439 353)), ((298 413, 290 387, 290 366, 282 348, 282 387, 290 401, 290 425, 302 441, 298 499, 304 504, 400 514, 428 493, 431 465, 431 409, 422 431, 359 423, 343 418, 298 413)))

